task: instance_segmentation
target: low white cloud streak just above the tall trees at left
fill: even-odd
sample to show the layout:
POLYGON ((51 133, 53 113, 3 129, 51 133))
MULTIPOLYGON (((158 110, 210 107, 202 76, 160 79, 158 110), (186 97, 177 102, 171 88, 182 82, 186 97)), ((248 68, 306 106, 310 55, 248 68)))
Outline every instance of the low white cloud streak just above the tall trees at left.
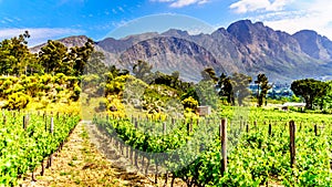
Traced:
POLYGON ((24 31, 29 31, 31 38, 28 40, 29 45, 33 46, 48 40, 55 40, 66 35, 83 34, 83 30, 65 28, 24 28, 24 29, 0 29, 0 40, 18 37, 24 31))

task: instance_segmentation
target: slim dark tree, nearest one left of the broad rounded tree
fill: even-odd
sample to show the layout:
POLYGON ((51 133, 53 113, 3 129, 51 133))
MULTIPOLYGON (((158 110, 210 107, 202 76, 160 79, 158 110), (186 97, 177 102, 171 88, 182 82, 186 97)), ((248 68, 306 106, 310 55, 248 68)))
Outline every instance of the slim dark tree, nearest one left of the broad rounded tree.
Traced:
POLYGON ((269 85, 269 80, 266 76, 266 74, 258 74, 257 81, 255 81, 257 84, 257 100, 258 100, 258 106, 262 106, 263 100, 267 97, 268 91, 272 87, 269 85))

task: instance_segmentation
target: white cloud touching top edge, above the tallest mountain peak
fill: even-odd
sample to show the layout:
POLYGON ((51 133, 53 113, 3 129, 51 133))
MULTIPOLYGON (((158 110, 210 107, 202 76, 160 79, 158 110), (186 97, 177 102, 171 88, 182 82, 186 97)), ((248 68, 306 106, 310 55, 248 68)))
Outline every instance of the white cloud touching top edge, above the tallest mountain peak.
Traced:
POLYGON ((239 0, 229 6, 237 13, 247 13, 255 11, 278 11, 283 10, 286 6, 293 2, 293 0, 239 0))

